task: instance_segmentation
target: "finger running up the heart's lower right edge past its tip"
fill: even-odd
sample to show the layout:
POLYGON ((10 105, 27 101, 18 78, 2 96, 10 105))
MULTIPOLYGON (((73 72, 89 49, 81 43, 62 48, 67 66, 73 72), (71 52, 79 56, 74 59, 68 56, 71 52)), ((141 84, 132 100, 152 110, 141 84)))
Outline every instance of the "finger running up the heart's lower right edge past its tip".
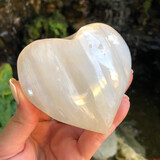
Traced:
POLYGON ((115 130, 115 128, 123 121, 128 113, 130 102, 127 96, 124 96, 120 107, 117 111, 112 126, 107 134, 101 134, 85 130, 78 140, 78 147, 81 155, 85 159, 90 159, 103 141, 115 130))

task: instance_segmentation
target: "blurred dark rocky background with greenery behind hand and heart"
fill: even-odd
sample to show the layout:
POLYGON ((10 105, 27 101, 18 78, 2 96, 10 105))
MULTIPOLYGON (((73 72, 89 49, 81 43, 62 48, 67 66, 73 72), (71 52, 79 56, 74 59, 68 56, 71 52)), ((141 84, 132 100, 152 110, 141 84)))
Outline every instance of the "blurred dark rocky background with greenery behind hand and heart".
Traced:
MULTIPOLYGON (((110 159, 160 158, 160 0, 0 0, 0 131, 16 109, 8 80, 17 78, 20 51, 36 39, 66 37, 93 22, 123 36, 134 70, 127 91, 131 109, 112 136, 116 147, 109 142, 110 159)), ((101 154, 93 159, 107 158, 101 154)))

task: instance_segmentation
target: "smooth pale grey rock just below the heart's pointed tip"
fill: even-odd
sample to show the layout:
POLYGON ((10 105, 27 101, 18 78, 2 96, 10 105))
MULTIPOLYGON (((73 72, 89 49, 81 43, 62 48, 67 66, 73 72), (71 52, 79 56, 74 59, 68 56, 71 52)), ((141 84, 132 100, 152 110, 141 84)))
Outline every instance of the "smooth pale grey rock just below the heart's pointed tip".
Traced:
POLYGON ((100 148, 94 154, 95 159, 107 159, 112 157, 117 152, 117 137, 115 132, 113 132, 100 146, 100 148))

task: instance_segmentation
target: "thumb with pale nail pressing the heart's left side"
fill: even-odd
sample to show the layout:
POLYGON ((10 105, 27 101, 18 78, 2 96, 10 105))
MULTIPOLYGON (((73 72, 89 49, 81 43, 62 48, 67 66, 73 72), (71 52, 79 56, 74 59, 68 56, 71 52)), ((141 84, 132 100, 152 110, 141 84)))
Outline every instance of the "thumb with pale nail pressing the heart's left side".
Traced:
POLYGON ((39 110, 24 96, 19 82, 10 79, 10 87, 17 101, 17 110, 0 134, 0 159, 21 152, 39 120, 39 110))

